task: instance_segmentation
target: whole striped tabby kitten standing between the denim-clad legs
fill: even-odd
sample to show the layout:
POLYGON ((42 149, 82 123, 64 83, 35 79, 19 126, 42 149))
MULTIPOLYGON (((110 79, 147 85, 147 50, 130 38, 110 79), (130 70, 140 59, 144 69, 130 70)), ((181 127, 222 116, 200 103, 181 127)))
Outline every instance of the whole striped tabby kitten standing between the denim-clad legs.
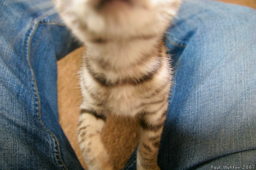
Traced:
POLYGON ((112 170, 100 134, 109 114, 139 116, 137 169, 160 169, 157 153, 171 70, 161 41, 180 0, 55 0, 87 47, 78 141, 89 170, 112 170))

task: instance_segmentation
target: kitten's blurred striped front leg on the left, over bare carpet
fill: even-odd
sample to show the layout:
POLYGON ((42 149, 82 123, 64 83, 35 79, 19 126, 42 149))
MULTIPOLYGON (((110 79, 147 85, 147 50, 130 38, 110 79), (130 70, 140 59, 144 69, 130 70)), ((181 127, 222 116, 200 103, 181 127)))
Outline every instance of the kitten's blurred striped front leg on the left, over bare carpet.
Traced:
POLYGON ((101 138, 106 117, 92 110, 82 109, 79 116, 78 142, 89 170, 113 170, 101 138))

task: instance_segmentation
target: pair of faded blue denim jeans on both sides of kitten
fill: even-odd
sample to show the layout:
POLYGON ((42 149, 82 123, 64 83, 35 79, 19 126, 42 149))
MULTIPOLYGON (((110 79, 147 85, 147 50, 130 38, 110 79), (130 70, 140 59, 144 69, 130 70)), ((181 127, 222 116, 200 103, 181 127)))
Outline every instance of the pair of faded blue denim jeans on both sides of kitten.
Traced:
MULTIPOLYGON (((0 169, 83 169, 56 90, 56 61, 78 43, 48 0, 0 6, 0 169)), ((165 41, 175 73, 160 168, 256 169, 255 10, 186 0, 165 41)), ((135 164, 136 151, 124 169, 135 164)))

